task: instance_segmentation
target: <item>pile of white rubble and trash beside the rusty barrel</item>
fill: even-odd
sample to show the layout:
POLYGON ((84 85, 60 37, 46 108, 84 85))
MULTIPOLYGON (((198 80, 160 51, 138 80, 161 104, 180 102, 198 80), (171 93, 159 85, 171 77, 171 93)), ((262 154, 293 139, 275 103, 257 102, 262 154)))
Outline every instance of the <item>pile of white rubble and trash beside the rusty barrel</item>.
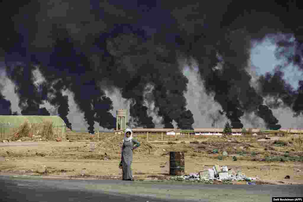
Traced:
POLYGON ((201 181, 212 183, 213 180, 217 180, 219 182, 224 181, 247 181, 247 184, 255 184, 252 182, 253 180, 258 180, 259 178, 256 176, 246 177, 241 171, 235 171, 234 169, 227 168, 227 166, 220 167, 219 165, 214 165, 213 168, 208 169, 207 171, 201 171, 199 173, 190 173, 189 175, 182 176, 174 176, 170 178, 171 180, 178 181, 201 181))

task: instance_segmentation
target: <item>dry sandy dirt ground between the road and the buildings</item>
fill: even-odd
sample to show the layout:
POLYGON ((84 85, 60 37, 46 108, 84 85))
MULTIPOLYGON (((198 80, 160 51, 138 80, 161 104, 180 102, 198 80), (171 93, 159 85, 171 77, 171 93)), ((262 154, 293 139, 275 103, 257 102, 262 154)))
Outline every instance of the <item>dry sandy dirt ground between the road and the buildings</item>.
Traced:
MULTIPOLYGON (((199 137, 196 140, 180 139, 176 144, 168 141, 147 142, 136 137, 142 144, 134 152, 133 175, 136 180, 164 180, 169 176, 169 151, 185 152, 185 174, 212 168, 218 164, 234 168, 248 177, 258 176, 272 184, 303 184, 303 161, 264 161, 270 156, 289 156, 300 159, 303 152, 294 145, 277 146, 273 141, 257 141, 257 138, 236 138, 246 144, 234 143, 222 137, 199 137), (218 149, 218 154, 213 153, 218 149), (152 153, 153 151, 153 153, 152 153), (223 157, 222 152, 228 156, 223 157), (252 153, 254 152, 254 154, 252 153), (237 161, 233 161, 233 156, 237 161), (285 179, 286 175, 290 179, 285 179)), ((95 142, 14 142, 0 144, 0 172, 2 174, 48 175, 70 178, 121 179, 118 168, 121 159, 122 136, 112 135, 95 142), (6 145, 5 145, 6 144, 6 145), (27 145, 26 145, 27 144, 27 145), (9 145, 9 146, 8 146, 9 145), (46 171, 45 171, 46 170, 46 171)))

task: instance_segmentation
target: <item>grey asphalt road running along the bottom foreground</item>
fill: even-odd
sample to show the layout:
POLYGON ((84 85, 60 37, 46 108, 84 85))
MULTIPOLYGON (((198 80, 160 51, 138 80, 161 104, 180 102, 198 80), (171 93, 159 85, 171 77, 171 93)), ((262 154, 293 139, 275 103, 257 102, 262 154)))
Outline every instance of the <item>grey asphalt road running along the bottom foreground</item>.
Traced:
POLYGON ((2 201, 271 201, 302 197, 303 185, 214 185, 0 176, 2 201))

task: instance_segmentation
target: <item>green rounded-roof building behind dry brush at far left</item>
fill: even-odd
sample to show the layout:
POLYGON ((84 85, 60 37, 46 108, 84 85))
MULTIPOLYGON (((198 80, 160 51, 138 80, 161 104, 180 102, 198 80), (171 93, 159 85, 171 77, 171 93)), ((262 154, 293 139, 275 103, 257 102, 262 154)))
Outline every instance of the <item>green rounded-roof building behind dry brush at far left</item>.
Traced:
MULTIPOLYGON (((30 125, 40 125, 44 123, 52 122, 53 131, 57 134, 57 137, 66 137, 66 124, 59 116, 8 116, 0 115, 0 138, 7 137, 8 134, 12 134, 18 127, 25 122, 30 125)), ((42 126, 43 127, 43 126, 42 126)))

